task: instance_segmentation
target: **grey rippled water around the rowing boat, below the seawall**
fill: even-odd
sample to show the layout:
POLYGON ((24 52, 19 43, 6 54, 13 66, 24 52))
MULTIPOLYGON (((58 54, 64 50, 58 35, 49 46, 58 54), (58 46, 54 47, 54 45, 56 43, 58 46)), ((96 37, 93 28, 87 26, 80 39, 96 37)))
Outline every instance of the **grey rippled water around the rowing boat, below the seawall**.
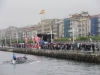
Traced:
MULTIPOLYGON (((9 61, 11 52, 0 52, 0 62, 9 61)), ((23 54, 17 54, 21 56, 23 54)), ((0 64, 0 75, 100 75, 100 65, 28 55, 30 62, 0 64)))

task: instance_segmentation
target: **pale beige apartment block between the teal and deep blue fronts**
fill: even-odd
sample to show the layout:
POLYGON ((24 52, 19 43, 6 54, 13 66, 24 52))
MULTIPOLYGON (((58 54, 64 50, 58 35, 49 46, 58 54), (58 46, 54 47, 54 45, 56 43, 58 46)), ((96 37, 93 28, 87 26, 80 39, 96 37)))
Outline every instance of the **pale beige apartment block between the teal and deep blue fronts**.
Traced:
POLYGON ((90 34, 90 20, 88 12, 81 12, 80 14, 70 14, 70 37, 87 36, 90 34), (73 31, 74 29, 74 31, 73 31))

